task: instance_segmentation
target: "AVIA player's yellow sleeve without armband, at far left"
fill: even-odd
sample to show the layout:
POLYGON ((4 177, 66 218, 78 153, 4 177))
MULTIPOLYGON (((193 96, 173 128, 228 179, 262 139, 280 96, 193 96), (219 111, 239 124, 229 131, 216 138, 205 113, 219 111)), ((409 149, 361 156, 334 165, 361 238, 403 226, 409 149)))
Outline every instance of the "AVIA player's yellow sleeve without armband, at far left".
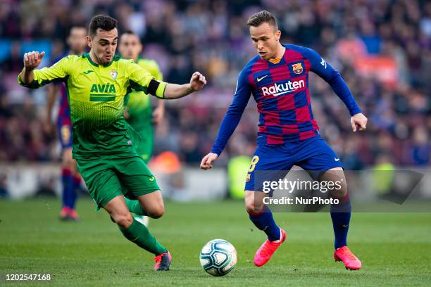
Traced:
POLYGON ((64 57, 51 67, 33 70, 34 79, 30 84, 23 83, 21 74, 18 75, 18 84, 30 89, 37 89, 51 82, 65 82, 70 74, 70 56, 64 57))

